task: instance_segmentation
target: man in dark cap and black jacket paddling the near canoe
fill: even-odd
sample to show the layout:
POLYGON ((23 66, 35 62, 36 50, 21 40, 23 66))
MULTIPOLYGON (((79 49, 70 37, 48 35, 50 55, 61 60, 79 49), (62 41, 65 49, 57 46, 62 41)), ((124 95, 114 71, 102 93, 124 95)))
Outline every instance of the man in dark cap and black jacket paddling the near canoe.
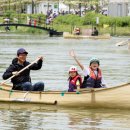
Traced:
POLYGON ((22 91, 43 91, 44 83, 37 82, 34 85, 31 83, 30 70, 39 70, 42 67, 43 57, 39 57, 37 63, 32 64, 23 72, 18 73, 20 70, 27 67, 30 63, 26 61, 28 52, 24 48, 17 50, 17 58, 12 60, 12 64, 6 69, 3 74, 3 79, 6 80, 15 75, 11 82, 13 83, 14 90, 22 91))

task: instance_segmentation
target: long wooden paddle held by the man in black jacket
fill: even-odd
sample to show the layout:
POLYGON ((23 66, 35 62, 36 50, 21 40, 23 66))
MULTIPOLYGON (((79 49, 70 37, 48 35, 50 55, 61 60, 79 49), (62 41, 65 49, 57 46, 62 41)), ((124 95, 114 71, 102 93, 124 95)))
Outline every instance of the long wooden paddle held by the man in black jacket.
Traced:
MULTIPOLYGON (((33 61, 31 64, 27 65, 26 67, 24 67, 23 69, 21 69, 17 75, 19 75, 21 72, 23 72, 24 70, 26 70, 27 68, 29 68, 30 66, 32 66, 34 63, 37 63, 37 61, 39 61, 40 58, 37 58, 35 61, 33 61)), ((12 78, 14 78, 17 75, 12 75, 10 78, 8 78, 7 80, 3 81, 2 83, 0 83, 1 85, 5 84, 6 82, 8 82, 9 80, 11 80, 12 78)))

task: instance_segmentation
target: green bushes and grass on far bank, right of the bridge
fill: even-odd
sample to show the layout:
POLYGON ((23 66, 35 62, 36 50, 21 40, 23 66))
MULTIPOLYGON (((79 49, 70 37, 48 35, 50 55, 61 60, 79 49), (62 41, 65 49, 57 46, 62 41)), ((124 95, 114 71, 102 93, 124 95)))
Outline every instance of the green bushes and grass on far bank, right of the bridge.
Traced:
POLYGON ((109 33, 117 36, 130 36, 130 17, 110 17, 94 12, 87 13, 84 17, 77 15, 59 16, 54 20, 53 27, 59 31, 72 32, 74 27, 92 29, 96 26, 100 34, 109 33), (99 23, 96 24, 96 18, 99 23))

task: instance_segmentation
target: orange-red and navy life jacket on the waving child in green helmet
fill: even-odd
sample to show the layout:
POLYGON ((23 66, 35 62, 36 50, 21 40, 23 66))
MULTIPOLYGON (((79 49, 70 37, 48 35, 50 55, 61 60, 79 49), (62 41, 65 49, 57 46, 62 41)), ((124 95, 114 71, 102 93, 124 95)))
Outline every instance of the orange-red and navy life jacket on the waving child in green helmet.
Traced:
POLYGON ((97 75, 89 68, 90 74, 84 77, 82 88, 101 88, 102 72, 98 68, 97 75))

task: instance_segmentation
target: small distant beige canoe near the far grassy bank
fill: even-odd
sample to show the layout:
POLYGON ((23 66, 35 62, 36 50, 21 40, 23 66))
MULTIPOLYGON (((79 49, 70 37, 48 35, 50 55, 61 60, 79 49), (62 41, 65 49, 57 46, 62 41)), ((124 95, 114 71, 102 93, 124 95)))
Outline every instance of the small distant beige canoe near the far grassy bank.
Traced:
POLYGON ((98 36, 84 36, 84 35, 74 35, 69 32, 64 32, 63 37, 66 39, 110 39, 110 34, 103 34, 98 36))

